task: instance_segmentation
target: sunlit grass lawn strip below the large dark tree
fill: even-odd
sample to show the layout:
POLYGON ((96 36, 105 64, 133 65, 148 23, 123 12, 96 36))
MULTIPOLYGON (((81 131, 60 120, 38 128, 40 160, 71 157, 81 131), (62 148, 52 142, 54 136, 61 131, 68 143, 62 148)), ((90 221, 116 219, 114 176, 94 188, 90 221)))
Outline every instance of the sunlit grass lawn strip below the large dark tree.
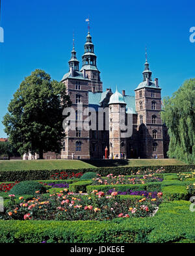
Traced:
POLYGON ((93 168, 93 165, 79 160, 4 160, 0 161, 0 171, 52 170, 93 168))

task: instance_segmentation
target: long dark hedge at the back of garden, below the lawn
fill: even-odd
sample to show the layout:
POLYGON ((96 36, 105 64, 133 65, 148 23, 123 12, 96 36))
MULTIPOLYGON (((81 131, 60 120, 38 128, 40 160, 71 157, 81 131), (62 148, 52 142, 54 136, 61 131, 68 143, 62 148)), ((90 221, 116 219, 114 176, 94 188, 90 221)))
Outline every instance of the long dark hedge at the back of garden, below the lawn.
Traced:
MULTIPOLYGON (((99 167, 88 169, 55 169, 55 170, 29 170, 29 171, 0 171, 0 181, 10 180, 49 180, 51 175, 65 171, 66 173, 86 173, 95 172, 101 176, 106 176, 112 173, 113 175, 136 175, 137 171, 140 174, 146 174, 148 170, 156 171, 161 169, 161 166, 142 166, 142 167, 99 167)), ((166 165, 164 166, 164 173, 179 173, 189 172, 195 169, 195 165, 166 165)))

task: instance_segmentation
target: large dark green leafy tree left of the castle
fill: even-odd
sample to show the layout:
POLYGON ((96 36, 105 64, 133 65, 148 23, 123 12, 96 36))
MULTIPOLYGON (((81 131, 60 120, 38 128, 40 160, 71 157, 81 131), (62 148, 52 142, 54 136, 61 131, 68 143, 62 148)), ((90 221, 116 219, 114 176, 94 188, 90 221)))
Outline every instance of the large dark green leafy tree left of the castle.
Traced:
POLYGON ((10 143, 21 155, 36 152, 40 159, 44 152, 59 152, 66 118, 62 111, 70 104, 62 83, 51 81, 43 70, 35 70, 21 82, 3 117, 10 143))

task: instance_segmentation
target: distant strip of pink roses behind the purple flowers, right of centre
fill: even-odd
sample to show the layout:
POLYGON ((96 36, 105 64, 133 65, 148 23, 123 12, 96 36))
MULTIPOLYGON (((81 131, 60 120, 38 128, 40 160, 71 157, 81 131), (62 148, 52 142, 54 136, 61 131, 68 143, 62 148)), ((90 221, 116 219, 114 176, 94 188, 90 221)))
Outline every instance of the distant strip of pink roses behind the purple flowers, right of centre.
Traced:
POLYGON ((107 177, 101 177, 97 174, 97 178, 93 178, 92 185, 114 185, 114 184, 146 184, 148 182, 162 182, 163 177, 158 177, 155 175, 144 175, 142 177, 128 177, 124 175, 114 176, 112 173, 107 175, 107 177))

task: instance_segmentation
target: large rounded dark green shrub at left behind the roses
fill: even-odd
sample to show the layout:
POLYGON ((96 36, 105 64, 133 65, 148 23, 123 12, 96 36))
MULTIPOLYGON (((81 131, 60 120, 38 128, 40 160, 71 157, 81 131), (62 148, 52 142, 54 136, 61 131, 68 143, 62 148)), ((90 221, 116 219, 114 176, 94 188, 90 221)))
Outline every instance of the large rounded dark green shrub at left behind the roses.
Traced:
POLYGON ((10 194, 14 195, 33 195, 36 191, 45 193, 46 188, 39 182, 32 180, 25 180, 16 184, 11 190, 10 194))

